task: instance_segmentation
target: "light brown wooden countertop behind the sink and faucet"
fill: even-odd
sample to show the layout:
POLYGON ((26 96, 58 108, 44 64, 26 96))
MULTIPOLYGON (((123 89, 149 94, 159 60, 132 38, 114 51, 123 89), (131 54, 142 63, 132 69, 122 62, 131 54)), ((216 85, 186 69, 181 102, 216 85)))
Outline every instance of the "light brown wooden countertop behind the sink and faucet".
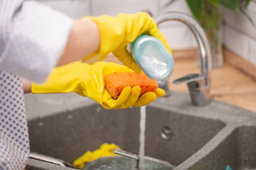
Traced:
MULTIPOLYGON (((200 69, 195 63, 196 53, 196 51, 186 50, 173 51, 175 69, 169 80, 171 90, 188 92, 186 84, 175 85, 172 81, 186 74, 199 73, 200 69)), ((227 57, 230 53, 226 51, 225 55, 227 57)), ((113 56, 107 57, 105 61, 120 63, 113 56)), ((256 112, 256 81, 234 68, 227 61, 221 68, 212 70, 211 96, 214 99, 256 112)))

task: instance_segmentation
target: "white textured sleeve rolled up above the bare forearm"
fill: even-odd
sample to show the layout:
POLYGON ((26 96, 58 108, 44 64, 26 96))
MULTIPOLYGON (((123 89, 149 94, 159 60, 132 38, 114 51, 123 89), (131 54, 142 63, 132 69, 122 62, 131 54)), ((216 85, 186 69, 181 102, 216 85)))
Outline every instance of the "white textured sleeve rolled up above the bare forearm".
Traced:
POLYGON ((67 44, 73 20, 33 0, 0 0, 0 70, 42 83, 67 44))

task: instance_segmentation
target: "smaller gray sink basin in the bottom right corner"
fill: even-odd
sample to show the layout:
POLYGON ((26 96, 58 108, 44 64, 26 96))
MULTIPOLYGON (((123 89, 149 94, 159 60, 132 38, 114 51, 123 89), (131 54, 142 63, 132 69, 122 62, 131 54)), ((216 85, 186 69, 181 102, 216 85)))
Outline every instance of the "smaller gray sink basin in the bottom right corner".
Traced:
POLYGON ((189 170, 221 170, 227 164, 233 170, 256 169, 256 126, 241 126, 189 170))

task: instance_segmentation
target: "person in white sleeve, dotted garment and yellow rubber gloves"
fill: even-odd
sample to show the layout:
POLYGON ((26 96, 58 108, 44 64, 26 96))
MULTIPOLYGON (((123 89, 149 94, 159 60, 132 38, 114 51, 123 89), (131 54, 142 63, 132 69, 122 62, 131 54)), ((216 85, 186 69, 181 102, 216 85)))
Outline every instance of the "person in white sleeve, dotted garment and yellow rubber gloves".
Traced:
POLYGON ((128 86, 114 100, 102 82, 111 72, 140 73, 126 46, 141 34, 157 37, 172 53, 146 13, 75 20, 33 0, 0 0, 0 170, 22 170, 29 156, 23 90, 74 91, 107 109, 143 106, 163 96, 158 89, 139 98, 140 87, 128 86), (127 67, 96 62, 111 52, 127 67), (74 62, 81 59, 93 64, 74 62))

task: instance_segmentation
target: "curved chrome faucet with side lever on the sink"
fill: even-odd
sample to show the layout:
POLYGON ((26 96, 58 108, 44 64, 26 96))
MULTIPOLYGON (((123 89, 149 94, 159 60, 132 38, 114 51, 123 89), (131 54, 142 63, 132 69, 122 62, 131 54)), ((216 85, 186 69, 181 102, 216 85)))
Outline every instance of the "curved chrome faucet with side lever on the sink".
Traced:
MULTIPOLYGON (((191 16, 181 12, 163 12, 153 17, 157 26, 166 21, 180 21, 195 35, 200 50, 201 73, 189 74, 173 81, 175 84, 187 83, 192 104, 204 106, 210 103, 211 85, 211 52, 207 36, 201 25, 191 16)), ((170 95, 167 81, 158 81, 159 88, 166 91, 165 97, 170 95)))

